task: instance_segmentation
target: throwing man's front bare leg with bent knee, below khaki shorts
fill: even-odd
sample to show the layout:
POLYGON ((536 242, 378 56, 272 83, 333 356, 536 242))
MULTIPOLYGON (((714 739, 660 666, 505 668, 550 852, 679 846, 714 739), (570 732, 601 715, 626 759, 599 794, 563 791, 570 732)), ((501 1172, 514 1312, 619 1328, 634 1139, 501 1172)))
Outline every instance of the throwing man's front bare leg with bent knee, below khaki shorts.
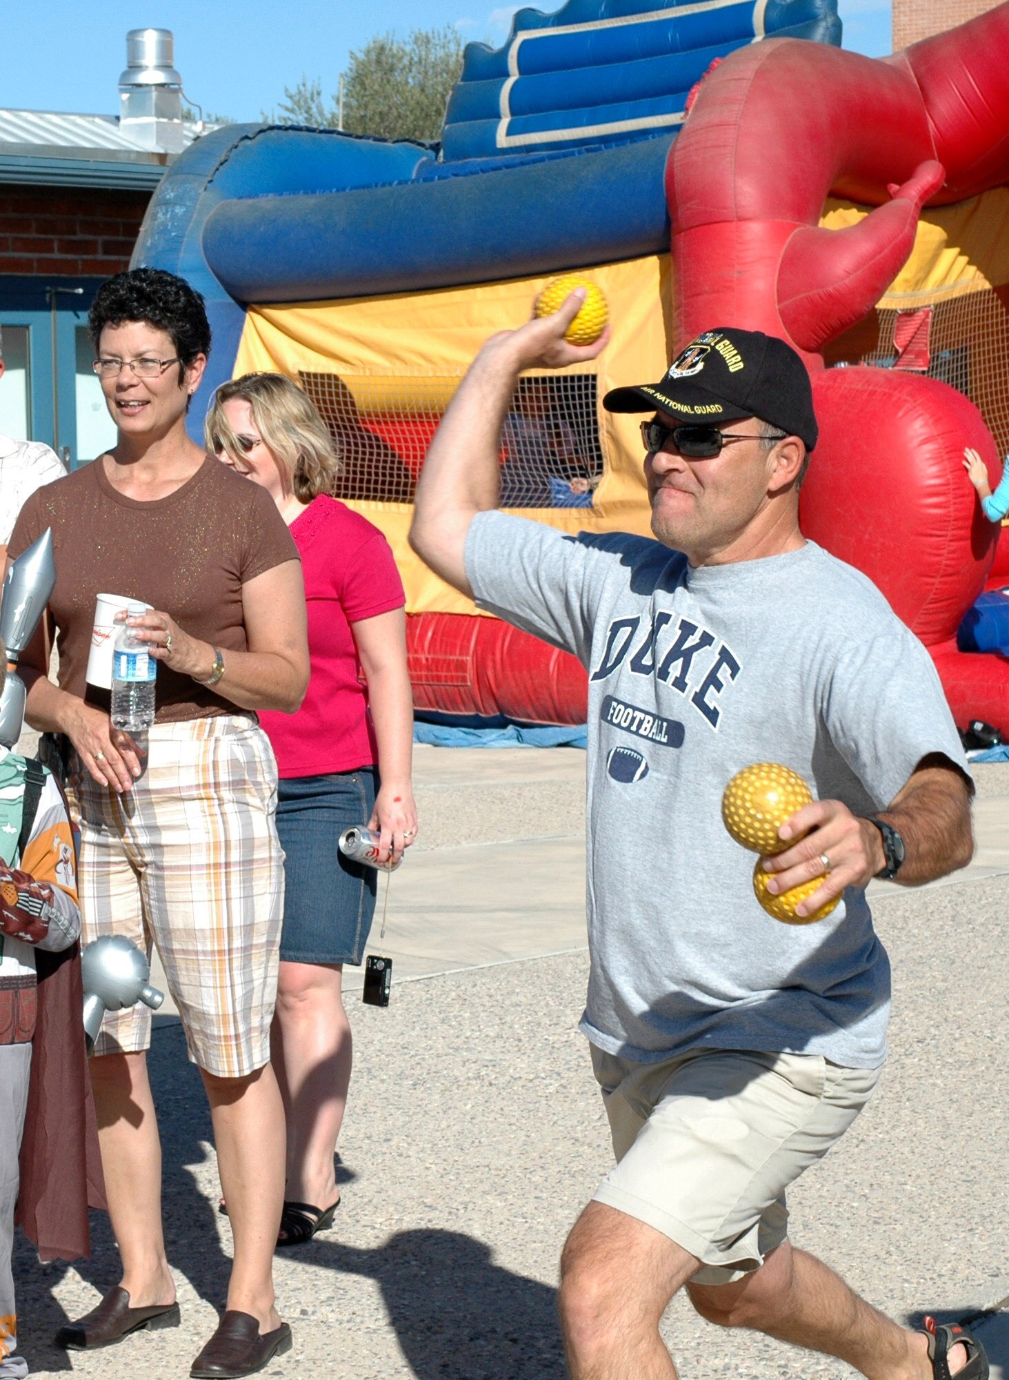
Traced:
POLYGON ((561 1257, 572 1380, 677 1380, 659 1319, 699 1264, 653 1227, 590 1202, 561 1257))

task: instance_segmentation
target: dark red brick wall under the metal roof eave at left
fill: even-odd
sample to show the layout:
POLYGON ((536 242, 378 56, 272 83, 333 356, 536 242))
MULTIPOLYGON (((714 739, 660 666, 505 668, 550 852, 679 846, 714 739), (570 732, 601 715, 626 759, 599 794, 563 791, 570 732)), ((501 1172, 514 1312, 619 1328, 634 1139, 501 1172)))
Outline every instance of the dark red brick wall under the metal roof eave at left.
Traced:
POLYGON ((113 188, 0 185, 0 273, 119 273, 149 200, 113 188))

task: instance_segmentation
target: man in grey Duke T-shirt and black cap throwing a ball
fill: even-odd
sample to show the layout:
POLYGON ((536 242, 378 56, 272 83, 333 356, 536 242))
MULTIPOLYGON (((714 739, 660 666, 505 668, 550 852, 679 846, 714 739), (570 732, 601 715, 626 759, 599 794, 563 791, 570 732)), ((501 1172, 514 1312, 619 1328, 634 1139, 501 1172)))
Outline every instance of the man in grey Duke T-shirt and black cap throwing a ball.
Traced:
POLYGON ((686 1286, 711 1321, 874 1380, 983 1380, 975 1339, 899 1328, 787 1239, 787 1185, 850 1125, 886 1054, 889 965, 866 885, 970 858, 972 787, 935 668, 873 584, 799 531, 817 428, 805 366, 772 337, 706 331, 658 385, 607 395, 652 414, 655 541, 495 511, 520 371, 605 344, 562 339, 579 305, 484 346, 411 535, 458 589, 589 672, 582 1029, 618 1165, 564 1250, 572 1376, 675 1376, 658 1323, 686 1286), (772 891, 815 883, 795 909, 811 923, 758 904, 755 856, 722 825, 725 785, 755 762, 812 787, 764 860, 772 891))

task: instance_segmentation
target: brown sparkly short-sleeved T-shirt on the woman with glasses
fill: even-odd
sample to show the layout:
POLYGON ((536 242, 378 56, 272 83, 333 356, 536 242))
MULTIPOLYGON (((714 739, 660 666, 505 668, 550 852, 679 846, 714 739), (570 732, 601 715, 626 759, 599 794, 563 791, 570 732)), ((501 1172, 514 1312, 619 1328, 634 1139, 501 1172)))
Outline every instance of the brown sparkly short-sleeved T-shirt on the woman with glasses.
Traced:
MULTIPOLYGON (((241 586, 299 559, 267 491, 211 458, 175 493, 150 502, 120 494, 96 460, 32 494, 8 555, 19 556, 47 527, 57 562, 50 611, 59 686, 102 709, 109 691, 85 680, 99 593, 141 599, 171 614, 190 636, 222 651, 245 651, 241 586)), ((156 694, 159 723, 238 712, 164 664, 156 694)))

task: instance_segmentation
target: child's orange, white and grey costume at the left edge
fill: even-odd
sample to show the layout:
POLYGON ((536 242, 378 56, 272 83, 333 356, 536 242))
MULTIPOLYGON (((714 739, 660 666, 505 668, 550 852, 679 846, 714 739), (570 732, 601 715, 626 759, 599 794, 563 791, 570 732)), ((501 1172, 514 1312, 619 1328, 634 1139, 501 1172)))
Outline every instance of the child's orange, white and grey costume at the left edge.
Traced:
MULTIPOLYGON (((66 949, 80 933, 70 821, 52 777, 45 773, 34 821, 18 856, 23 822, 25 758, 0 747, 0 860, 48 887, 59 923, 44 945, 66 949)), ((21 887, 19 887, 21 890, 21 887)), ((18 907, 19 909, 21 907, 18 907)), ((11 1275, 14 1214, 19 1192, 19 1152, 28 1108, 32 1036, 37 1013, 34 945, 0 929, 0 1377, 28 1374, 18 1357, 18 1323, 11 1275)), ((80 1021, 80 1007, 74 1013, 80 1021)))

